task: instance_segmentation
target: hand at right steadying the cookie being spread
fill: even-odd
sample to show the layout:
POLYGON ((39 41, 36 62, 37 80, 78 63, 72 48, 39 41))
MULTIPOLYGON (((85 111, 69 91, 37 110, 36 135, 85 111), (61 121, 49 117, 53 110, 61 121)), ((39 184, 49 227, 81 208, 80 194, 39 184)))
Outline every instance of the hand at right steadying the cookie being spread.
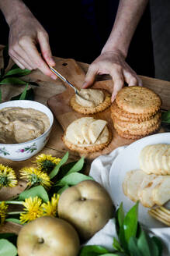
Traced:
POLYGON ((113 94, 112 102, 116 98, 116 94, 123 87, 124 82, 129 86, 142 86, 141 79, 137 76, 133 69, 125 62, 125 58, 120 51, 103 52, 94 62, 89 66, 88 72, 85 76, 85 83, 83 88, 91 86, 95 81, 97 74, 109 74, 113 78, 113 94))

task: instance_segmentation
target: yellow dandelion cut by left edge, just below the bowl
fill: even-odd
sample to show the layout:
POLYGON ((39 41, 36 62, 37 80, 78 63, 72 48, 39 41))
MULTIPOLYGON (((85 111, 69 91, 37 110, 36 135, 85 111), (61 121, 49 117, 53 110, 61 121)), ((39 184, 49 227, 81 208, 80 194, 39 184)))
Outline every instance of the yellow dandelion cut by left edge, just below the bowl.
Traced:
POLYGON ((0 188, 16 187, 16 172, 9 166, 0 164, 0 188))

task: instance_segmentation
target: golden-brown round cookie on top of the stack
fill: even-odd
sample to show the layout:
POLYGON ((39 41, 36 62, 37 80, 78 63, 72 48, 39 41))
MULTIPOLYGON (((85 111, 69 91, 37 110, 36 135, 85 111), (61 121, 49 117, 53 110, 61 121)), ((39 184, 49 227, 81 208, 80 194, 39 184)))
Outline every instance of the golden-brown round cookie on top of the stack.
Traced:
POLYGON ((116 95, 116 104, 125 112, 154 115, 161 107, 161 98, 147 87, 123 87, 116 95))

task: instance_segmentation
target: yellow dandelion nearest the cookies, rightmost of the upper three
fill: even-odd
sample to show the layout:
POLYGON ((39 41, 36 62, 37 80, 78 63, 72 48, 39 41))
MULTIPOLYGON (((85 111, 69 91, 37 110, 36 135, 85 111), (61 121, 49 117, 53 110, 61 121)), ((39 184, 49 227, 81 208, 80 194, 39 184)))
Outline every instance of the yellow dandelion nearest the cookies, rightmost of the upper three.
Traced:
POLYGON ((61 158, 55 158, 52 155, 41 154, 36 157, 37 169, 42 171, 52 171, 54 167, 61 162, 61 158))

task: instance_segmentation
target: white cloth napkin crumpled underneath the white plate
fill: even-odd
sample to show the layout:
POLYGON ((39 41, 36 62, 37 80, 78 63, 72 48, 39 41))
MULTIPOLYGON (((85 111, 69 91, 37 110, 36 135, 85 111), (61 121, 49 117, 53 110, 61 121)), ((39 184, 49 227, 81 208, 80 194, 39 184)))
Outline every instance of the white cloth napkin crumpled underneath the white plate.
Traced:
MULTIPOLYGON (((124 148, 126 148, 126 146, 116 148, 109 155, 101 155, 99 158, 95 158, 91 165, 89 175, 100 183, 102 187, 105 187, 109 194, 111 193, 109 187, 109 170, 113 161, 124 148)), ((150 236, 158 236, 162 240, 164 245, 162 256, 170 256, 170 228, 150 229, 147 230, 147 232, 150 236)), ((95 233, 85 245, 100 245, 106 247, 109 251, 114 251, 113 237, 117 238, 115 219, 109 219, 106 226, 99 230, 98 233, 95 233)))

